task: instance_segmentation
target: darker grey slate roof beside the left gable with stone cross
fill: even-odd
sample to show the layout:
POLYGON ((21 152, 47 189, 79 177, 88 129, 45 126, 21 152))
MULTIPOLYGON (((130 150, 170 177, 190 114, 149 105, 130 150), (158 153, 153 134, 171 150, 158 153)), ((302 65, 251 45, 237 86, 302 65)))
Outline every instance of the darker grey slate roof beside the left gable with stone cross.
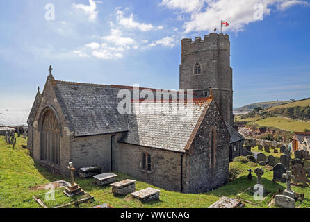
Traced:
POLYGON ((55 94, 74 136, 127 131, 128 117, 117 111, 119 89, 55 80, 55 94))

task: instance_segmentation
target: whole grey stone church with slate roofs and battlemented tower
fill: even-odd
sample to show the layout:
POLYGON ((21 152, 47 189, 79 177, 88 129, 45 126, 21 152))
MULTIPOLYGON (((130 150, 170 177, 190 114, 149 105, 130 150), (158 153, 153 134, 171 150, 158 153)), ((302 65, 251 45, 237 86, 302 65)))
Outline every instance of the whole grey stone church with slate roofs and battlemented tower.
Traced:
POLYGON ((193 89, 193 104, 165 105, 188 106, 183 113, 120 114, 117 95, 133 87, 64 82, 49 69, 28 117, 35 162, 63 176, 68 162, 77 169, 99 166, 102 173, 127 173, 184 193, 224 185, 244 139, 233 127, 229 36, 211 33, 181 44, 180 89, 193 89), (192 117, 184 118, 186 112, 192 117))

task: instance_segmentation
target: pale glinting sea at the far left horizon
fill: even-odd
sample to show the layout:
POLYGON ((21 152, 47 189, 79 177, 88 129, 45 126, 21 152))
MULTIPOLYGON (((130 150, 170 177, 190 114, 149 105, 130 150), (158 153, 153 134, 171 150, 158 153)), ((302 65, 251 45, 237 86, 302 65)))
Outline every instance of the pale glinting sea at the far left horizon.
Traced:
POLYGON ((30 110, 0 108, 0 126, 27 126, 30 110))

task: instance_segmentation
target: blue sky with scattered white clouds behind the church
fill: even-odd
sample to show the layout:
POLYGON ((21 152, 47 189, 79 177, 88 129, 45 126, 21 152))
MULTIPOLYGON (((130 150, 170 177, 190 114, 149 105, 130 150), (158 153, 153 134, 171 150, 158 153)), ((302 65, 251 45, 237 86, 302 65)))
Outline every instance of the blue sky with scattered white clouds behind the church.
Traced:
POLYGON ((179 89, 181 38, 219 30, 220 19, 230 24, 234 107, 310 96, 308 1, 10 0, 0 8, 2 108, 31 108, 49 65, 58 80, 179 89))

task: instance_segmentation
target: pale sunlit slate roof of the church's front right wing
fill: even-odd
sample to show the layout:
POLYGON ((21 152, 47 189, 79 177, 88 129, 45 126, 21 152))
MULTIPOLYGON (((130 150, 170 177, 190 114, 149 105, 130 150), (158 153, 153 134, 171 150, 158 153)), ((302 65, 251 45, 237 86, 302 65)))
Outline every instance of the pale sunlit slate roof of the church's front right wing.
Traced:
MULTIPOLYGON (((134 103, 142 113, 131 114, 129 132, 122 142, 170 151, 185 152, 190 138, 199 121, 202 121, 212 99, 193 99, 193 114, 190 114, 190 103, 172 101, 162 103, 170 108, 168 113, 146 113, 147 108, 141 103, 134 103), (183 111, 177 107, 183 105, 183 111)), ((195 136, 195 135, 194 135, 195 136)), ((189 144, 190 145, 190 144, 189 144)))

